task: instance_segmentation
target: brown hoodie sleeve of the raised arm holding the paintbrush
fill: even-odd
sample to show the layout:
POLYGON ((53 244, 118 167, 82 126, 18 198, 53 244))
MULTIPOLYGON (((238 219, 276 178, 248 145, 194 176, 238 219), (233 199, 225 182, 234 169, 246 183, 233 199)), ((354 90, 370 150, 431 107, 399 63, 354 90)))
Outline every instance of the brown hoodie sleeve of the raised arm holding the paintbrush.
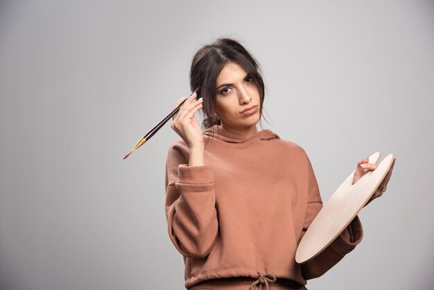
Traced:
POLYGON ((217 241, 211 165, 189 167, 188 147, 173 144, 166 160, 168 235, 184 257, 206 257, 217 241))

